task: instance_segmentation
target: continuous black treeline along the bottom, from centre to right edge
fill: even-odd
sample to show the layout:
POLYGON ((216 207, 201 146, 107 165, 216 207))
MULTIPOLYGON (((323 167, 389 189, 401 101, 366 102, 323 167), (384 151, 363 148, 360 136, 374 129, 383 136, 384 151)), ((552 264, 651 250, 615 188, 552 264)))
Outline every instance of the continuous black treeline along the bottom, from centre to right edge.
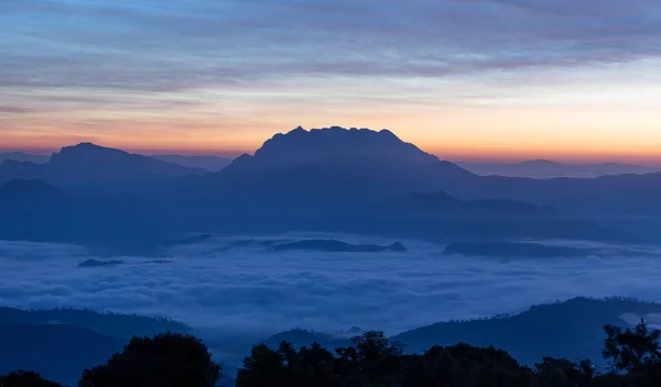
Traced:
POLYGON ((433 346, 404 355, 381 332, 351 339, 335 354, 319 344, 296 351, 288 342, 278 350, 258 345, 239 369, 237 387, 625 387, 661 386, 657 331, 644 323, 622 331, 606 325, 604 355, 613 371, 600 373, 589 361, 544 357, 533 368, 507 352, 468 344, 433 346))

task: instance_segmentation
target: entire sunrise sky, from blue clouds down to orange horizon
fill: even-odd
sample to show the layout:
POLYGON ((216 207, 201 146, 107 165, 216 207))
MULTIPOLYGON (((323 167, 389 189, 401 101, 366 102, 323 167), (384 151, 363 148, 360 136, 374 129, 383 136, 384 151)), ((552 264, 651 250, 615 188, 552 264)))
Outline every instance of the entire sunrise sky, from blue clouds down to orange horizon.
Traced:
POLYGON ((658 0, 2 0, 0 25, 0 150, 238 154, 343 125, 661 164, 658 0))

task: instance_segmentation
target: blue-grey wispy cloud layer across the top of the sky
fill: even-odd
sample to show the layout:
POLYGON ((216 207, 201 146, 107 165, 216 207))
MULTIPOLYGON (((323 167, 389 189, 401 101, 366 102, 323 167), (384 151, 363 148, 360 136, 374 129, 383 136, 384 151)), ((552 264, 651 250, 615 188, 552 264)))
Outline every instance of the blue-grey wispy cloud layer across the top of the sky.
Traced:
POLYGON ((440 77, 657 56, 655 1, 9 1, 7 86, 178 90, 291 76, 440 77))

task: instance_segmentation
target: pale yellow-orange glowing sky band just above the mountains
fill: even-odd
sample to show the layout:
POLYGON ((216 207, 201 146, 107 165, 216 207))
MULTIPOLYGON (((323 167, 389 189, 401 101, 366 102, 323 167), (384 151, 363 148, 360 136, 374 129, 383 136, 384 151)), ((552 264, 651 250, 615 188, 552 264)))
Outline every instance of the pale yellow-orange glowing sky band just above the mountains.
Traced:
POLYGON ((93 142, 147 154, 237 156, 297 125, 339 125, 389 129, 443 159, 661 165, 660 68, 661 62, 503 78, 288 79, 174 95, 18 90, 25 112, 0 117, 0 148, 50 153, 93 142), (62 102, 80 95, 96 102, 62 102), (172 108, 173 100, 188 103, 172 108))

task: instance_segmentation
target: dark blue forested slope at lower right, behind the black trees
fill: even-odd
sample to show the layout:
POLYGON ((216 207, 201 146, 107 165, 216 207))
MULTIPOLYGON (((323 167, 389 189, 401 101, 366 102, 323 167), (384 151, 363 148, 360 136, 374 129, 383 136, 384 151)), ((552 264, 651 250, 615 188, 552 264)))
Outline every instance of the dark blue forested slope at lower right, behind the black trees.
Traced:
POLYGON ((606 334, 603 327, 630 328, 644 318, 659 328, 660 303, 633 299, 604 300, 585 297, 564 302, 531 307, 513 316, 490 319, 447 321, 414 329, 392 338, 407 351, 421 353, 432 345, 494 345, 509 352, 521 363, 532 365, 543 356, 568 360, 590 358, 603 365, 606 334))

